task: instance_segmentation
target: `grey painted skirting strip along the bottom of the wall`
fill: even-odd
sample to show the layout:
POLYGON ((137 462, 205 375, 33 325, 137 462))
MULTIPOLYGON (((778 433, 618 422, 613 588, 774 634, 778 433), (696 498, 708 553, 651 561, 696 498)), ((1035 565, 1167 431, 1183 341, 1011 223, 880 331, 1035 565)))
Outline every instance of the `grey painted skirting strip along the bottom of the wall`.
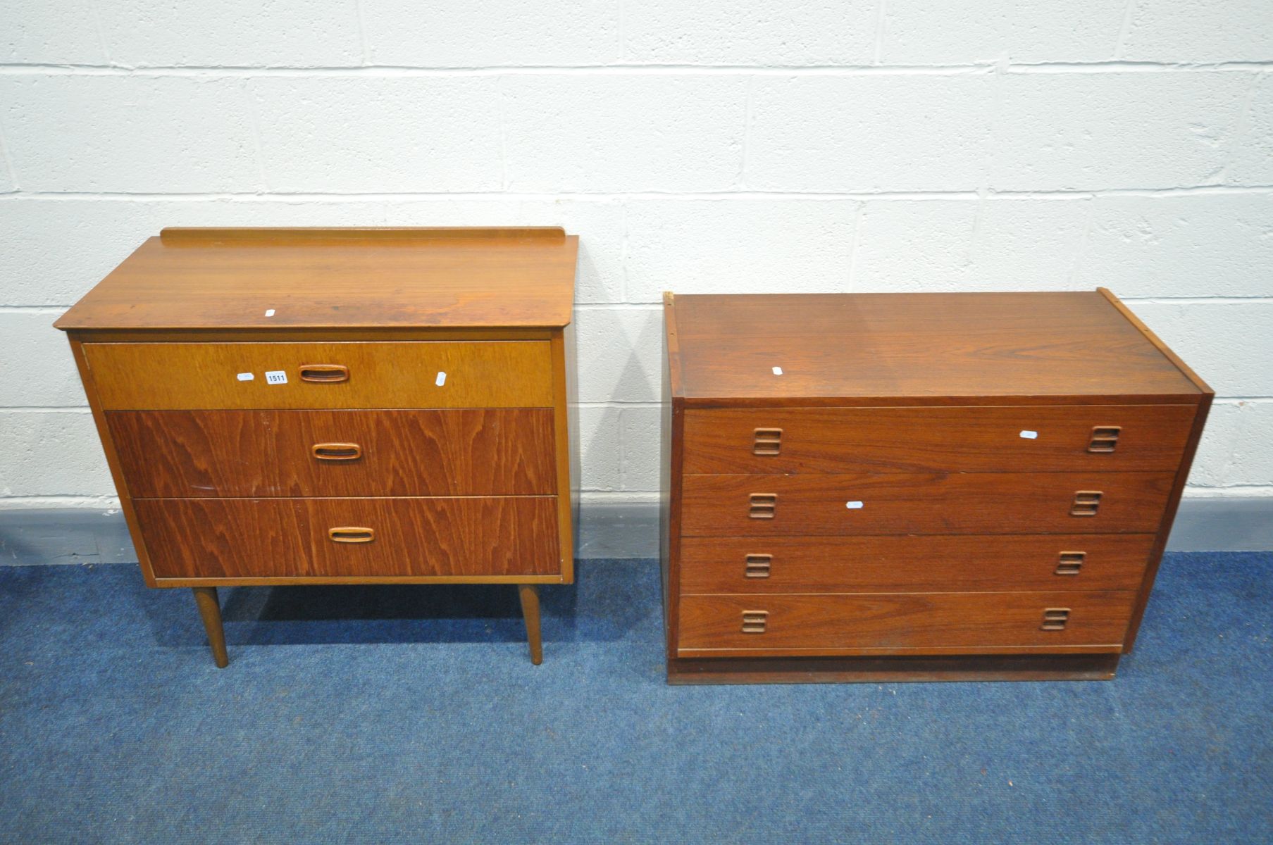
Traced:
MULTIPOLYGON (((587 504, 578 557, 658 557, 658 506, 587 504)), ((1185 499, 1167 551, 1273 550, 1273 496, 1185 499)), ((135 561, 118 510, 0 510, 0 566, 135 561)))

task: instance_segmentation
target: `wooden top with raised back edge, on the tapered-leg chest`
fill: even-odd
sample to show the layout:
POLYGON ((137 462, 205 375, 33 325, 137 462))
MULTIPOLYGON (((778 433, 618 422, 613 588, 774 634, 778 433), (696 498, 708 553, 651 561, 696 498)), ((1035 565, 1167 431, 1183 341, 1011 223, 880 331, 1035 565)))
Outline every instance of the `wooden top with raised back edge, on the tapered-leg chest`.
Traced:
POLYGON ((55 326, 559 328, 578 246, 556 228, 164 229, 55 326))

